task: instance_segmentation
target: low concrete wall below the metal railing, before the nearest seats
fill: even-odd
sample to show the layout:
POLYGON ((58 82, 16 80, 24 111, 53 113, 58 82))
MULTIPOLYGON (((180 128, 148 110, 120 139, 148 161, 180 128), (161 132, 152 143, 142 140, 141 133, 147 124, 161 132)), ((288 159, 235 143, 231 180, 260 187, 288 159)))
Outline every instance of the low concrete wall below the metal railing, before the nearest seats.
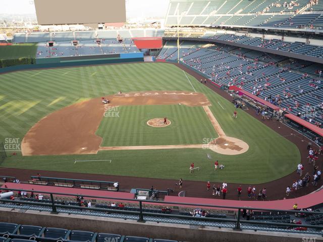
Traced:
POLYGON ((190 226, 171 223, 145 222, 75 214, 50 214, 34 210, 20 211, 0 208, 0 221, 18 224, 87 230, 93 232, 117 233, 150 238, 175 239, 190 242, 303 242, 323 241, 318 235, 267 232, 208 226, 190 226), (306 240, 312 238, 312 240, 306 240))

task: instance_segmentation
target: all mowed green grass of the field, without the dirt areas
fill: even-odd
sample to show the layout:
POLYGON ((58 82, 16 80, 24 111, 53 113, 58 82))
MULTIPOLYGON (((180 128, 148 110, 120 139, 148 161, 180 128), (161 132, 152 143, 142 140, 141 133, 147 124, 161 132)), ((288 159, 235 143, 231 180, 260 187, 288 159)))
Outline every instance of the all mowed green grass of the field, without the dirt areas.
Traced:
MULTIPOLYGON (((100 151, 97 155, 31 157, 22 157, 18 153, 16 156, 6 158, 2 166, 169 179, 182 177, 186 180, 223 181, 225 179, 228 183, 252 184, 274 180, 295 170, 300 161, 300 152, 293 143, 242 110, 238 110, 238 118, 233 119, 234 106, 231 102, 201 85, 192 76, 186 75, 187 77, 176 66, 164 63, 35 70, 1 75, 0 141, 5 141, 6 138, 21 140, 42 117, 89 98, 114 94, 120 90, 124 93, 149 90, 194 91, 193 86, 197 92, 205 93, 210 100, 212 104, 210 109, 225 133, 248 143, 249 150, 246 153, 229 156, 204 149, 100 151), (207 158, 207 153, 211 155, 212 159, 207 158), (99 162, 94 165, 91 162, 82 162, 74 164, 75 159, 112 159, 112 163, 99 162), (214 173, 214 159, 219 159, 220 163, 225 164, 225 169, 214 173), (201 166, 201 171, 189 174, 188 169, 191 162, 194 162, 196 166, 201 166)), ((168 132, 172 134, 172 139, 176 139, 180 143, 195 142, 201 138, 207 139, 214 136, 214 131, 210 130, 208 123, 205 127, 195 125, 203 122, 205 117, 203 117, 205 113, 199 114, 200 107, 192 111, 193 109, 188 109, 190 107, 184 106, 160 106, 160 110, 165 112, 174 108, 170 112, 170 116, 174 115, 174 117, 180 115, 182 111, 185 112, 185 108, 190 110, 194 116, 191 124, 194 131, 191 132, 187 127, 181 127, 176 131, 172 130, 177 122, 185 124, 183 123, 185 122, 184 118, 179 117, 174 118, 174 126, 162 128, 165 133, 160 131, 159 137, 155 133, 150 133, 147 127, 135 125, 140 123, 140 118, 143 121, 149 117, 149 112, 140 115, 146 110, 149 111, 149 107, 135 107, 135 110, 132 108, 134 107, 121 107, 120 111, 123 109, 125 111, 124 120, 121 121, 122 117, 119 121, 113 120, 114 129, 116 129, 116 131, 111 130, 111 132, 115 132, 113 137, 120 137, 120 140, 113 142, 122 143, 122 145, 149 144, 154 139, 160 139, 158 142, 163 144, 175 142, 175 140, 165 140, 169 139, 168 135, 165 135, 168 132), (163 110, 163 108, 165 109, 163 110), (129 111, 131 113, 128 113, 129 111), (135 124, 132 123, 133 121, 135 124), (129 132, 128 129, 118 127, 122 123, 125 127, 133 127, 133 130, 129 132), (144 132, 145 135, 139 135, 137 138, 136 134, 141 134, 141 132, 144 132)), ((152 112, 155 112, 154 108, 151 108, 152 112)), ((157 113, 151 114, 154 117, 157 115, 157 113)), ((164 116, 164 114, 160 115, 164 116)), ((109 122, 105 122, 103 118, 100 129, 97 131, 104 138, 104 145, 112 144, 109 143, 109 139, 105 138, 109 136, 109 132, 107 132, 109 125, 109 122)))

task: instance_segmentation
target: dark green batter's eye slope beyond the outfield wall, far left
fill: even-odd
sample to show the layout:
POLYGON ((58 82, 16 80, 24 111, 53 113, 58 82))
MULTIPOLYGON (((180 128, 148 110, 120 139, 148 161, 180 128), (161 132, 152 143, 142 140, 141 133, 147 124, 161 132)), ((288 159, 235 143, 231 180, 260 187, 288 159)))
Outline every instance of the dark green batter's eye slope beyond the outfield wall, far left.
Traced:
POLYGON ((35 57, 37 43, 13 44, 0 46, 0 59, 35 57))

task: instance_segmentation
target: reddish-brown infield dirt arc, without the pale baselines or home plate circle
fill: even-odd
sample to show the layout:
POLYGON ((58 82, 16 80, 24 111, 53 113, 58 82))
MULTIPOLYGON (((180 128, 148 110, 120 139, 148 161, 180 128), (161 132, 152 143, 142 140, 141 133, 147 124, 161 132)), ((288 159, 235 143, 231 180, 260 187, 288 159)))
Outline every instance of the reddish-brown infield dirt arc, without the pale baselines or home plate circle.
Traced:
POLYGON ((39 120, 22 140, 22 155, 96 154, 102 138, 95 135, 104 111, 124 105, 210 105, 203 93, 186 91, 133 92, 75 103, 39 120))

